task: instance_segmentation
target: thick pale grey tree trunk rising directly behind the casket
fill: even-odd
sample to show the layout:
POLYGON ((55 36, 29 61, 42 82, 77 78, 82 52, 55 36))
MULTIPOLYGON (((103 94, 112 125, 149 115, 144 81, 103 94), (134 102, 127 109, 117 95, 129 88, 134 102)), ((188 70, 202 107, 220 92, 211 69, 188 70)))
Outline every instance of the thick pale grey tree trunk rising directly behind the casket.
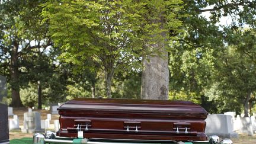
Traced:
MULTIPOLYGON (((161 24, 164 30, 163 12, 159 14, 159 19, 153 20, 152 23, 161 24)), ((169 99, 169 68, 168 68, 168 52, 165 49, 167 36, 166 31, 161 33, 162 40, 156 37, 155 44, 151 47, 155 50, 152 56, 143 57, 142 60, 142 99, 151 100, 168 100, 169 99)), ((152 36, 155 37, 155 36, 152 36)))

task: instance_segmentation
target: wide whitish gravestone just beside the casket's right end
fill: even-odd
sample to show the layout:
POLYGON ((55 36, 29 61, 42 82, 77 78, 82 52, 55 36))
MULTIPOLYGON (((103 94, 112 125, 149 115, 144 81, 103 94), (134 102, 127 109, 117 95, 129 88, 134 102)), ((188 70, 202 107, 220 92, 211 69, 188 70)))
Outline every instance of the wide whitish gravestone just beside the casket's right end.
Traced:
POLYGON ((231 117, 225 114, 211 114, 207 116, 206 135, 217 135, 225 138, 238 137, 238 134, 233 132, 231 117))

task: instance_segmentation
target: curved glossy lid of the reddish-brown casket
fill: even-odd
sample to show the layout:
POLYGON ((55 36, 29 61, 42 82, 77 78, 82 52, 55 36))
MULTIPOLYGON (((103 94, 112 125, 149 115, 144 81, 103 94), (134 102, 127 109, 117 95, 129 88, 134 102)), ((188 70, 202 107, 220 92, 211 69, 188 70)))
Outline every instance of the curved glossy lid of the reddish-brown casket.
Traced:
POLYGON ((144 113, 203 114, 207 111, 190 101, 77 98, 67 101, 58 110, 127 111, 144 113))

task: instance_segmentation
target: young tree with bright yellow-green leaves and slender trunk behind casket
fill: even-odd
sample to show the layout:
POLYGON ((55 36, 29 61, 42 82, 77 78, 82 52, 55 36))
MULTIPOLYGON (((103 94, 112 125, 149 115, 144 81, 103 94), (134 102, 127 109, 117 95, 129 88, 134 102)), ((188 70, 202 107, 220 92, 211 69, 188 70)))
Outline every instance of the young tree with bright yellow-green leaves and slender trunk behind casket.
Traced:
POLYGON ((114 72, 140 66, 140 57, 152 52, 151 44, 165 40, 162 31, 181 25, 175 18, 178 4, 181 1, 49 1, 43 15, 50 36, 62 47, 60 58, 78 66, 94 62, 105 73, 111 97, 114 72), (163 11, 166 28, 153 23, 163 11))

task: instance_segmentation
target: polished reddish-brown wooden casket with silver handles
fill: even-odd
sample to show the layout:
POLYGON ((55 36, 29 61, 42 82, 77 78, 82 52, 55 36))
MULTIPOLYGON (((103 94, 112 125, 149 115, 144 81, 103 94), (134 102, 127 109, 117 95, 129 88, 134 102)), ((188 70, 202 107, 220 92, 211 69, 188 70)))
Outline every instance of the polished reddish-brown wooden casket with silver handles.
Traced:
POLYGON ((207 140, 207 111, 189 101, 78 98, 59 108, 57 136, 207 140))

